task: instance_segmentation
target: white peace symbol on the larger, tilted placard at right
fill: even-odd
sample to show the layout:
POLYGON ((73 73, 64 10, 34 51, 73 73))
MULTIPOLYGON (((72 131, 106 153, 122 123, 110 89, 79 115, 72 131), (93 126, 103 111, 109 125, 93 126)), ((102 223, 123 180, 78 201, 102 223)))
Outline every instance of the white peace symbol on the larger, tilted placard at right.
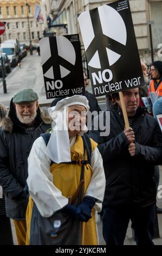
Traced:
POLYGON ((102 66, 102 63, 112 66, 117 62, 127 41, 126 26, 118 11, 102 5, 98 7, 97 15, 93 10, 85 11, 79 15, 78 20, 89 59, 88 65, 96 69, 107 69, 108 65, 102 66), (107 26, 111 24, 113 26, 107 26))

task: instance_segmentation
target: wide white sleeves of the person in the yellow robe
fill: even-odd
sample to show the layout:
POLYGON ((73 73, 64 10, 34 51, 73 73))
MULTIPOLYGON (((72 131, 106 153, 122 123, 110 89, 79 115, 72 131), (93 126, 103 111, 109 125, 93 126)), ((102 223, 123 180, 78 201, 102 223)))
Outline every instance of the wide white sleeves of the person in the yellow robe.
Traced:
MULTIPOLYGON (((70 141, 70 147, 75 143, 76 137, 70 141)), ((55 211, 68 204, 68 199, 62 196, 61 191, 53 184, 53 175, 50 173, 51 160, 45 154, 46 143, 42 137, 36 139, 28 158, 29 193, 33 198, 40 214, 50 217, 55 211)), ((95 204, 97 211, 101 210, 101 202, 105 192, 105 173, 101 154, 96 147, 92 152, 91 166, 93 170, 90 184, 85 196, 98 199, 95 204)))

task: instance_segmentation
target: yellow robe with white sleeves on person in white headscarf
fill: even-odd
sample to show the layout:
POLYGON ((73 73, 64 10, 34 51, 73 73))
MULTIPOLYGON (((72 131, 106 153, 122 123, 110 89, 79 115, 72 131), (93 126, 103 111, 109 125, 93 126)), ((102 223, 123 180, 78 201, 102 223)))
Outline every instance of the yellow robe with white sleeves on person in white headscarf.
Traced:
MULTIPOLYGON (((101 202, 105 192, 105 174, 102 157, 97 144, 92 140, 91 164, 85 166, 84 196, 92 196, 96 204, 92 211, 92 218, 82 223, 82 245, 96 245, 98 243, 95 210, 101 210, 101 202)), ((83 141, 81 136, 74 137, 70 142, 71 159, 83 159, 83 141)), ((46 144, 42 137, 38 138, 29 155, 29 176, 27 179, 31 198, 34 200, 40 214, 50 217, 55 211, 68 204, 69 196, 72 196, 80 183, 81 165, 53 163, 44 154, 46 144)), ((29 200, 27 211, 28 238, 30 236, 30 220, 32 215, 32 202, 29 200)), ((34 234, 33 234, 34 235, 34 234)))

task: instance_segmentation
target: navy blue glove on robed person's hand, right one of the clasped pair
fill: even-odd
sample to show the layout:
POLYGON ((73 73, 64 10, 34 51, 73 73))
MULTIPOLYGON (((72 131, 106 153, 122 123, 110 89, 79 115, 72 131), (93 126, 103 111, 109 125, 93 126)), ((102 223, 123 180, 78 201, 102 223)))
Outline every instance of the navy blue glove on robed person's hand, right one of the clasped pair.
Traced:
POLYGON ((95 199, 93 197, 84 197, 82 203, 79 204, 76 209, 77 220, 87 222, 90 218, 92 218, 91 212, 94 205, 95 199))

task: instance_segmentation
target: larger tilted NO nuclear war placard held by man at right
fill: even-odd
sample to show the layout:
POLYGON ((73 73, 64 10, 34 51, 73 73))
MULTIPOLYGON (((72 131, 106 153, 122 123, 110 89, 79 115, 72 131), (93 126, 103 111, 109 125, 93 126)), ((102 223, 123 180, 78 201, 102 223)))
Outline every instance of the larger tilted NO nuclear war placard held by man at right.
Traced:
POLYGON ((95 96, 145 85, 127 0, 85 11, 78 20, 95 96))

